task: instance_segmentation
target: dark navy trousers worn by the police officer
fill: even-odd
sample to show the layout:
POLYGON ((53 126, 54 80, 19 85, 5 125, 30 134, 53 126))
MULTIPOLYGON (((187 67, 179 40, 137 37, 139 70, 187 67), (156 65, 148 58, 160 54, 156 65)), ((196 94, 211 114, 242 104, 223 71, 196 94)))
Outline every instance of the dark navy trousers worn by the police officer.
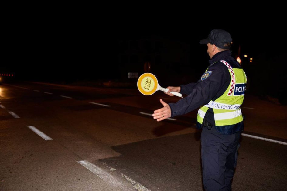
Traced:
POLYGON ((202 180, 206 191, 231 190, 240 132, 224 135, 215 127, 201 132, 202 180))

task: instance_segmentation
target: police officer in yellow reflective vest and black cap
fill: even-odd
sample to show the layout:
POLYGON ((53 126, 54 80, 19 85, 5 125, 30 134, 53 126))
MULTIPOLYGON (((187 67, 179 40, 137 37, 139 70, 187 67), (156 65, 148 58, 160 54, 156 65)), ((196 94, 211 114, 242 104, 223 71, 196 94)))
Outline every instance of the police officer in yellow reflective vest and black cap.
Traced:
POLYGON ((165 103, 152 114, 157 121, 186 114, 199 107, 196 126, 202 128, 201 160, 204 189, 231 190, 237 162, 243 117, 240 106, 246 89, 246 75, 231 56, 231 35, 220 29, 210 32, 200 44, 207 45, 209 67, 196 83, 167 87, 166 93, 188 95, 176 103, 165 103))

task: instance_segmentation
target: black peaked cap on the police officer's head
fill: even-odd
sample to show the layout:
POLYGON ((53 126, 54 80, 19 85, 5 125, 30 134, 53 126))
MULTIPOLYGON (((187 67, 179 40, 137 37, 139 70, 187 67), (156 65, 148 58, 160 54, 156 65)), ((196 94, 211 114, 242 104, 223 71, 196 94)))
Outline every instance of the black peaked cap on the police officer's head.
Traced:
POLYGON ((231 45, 229 46, 223 46, 224 44, 231 43, 231 35, 229 32, 222 30, 222 29, 213 29, 207 39, 201 40, 199 43, 200 44, 214 44, 215 46, 222 48, 222 49, 230 49, 231 45))

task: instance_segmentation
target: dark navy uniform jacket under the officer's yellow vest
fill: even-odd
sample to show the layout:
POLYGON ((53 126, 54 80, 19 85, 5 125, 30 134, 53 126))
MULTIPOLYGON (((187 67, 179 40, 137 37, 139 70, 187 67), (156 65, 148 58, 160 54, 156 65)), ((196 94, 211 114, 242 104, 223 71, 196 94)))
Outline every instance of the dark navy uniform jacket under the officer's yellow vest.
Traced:
MULTIPOLYGON (((188 96, 176 103, 169 103, 171 117, 191 112, 207 104, 210 100, 215 101, 226 91, 230 84, 230 73, 222 62, 218 62, 220 60, 225 60, 232 68, 241 68, 240 64, 231 56, 230 50, 215 54, 212 59, 209 60, 210 66, 207 71, 211 71, 212 73, 206 79, 200 79, 196 83, 180 86, 180 93, 188 96)), ((209 108, 204 116, 203 124, 205 123, 212 124, 218 132, 227 135, 243 129, 243 121, 234 125, 215 126, 212 108, 209 108)), ((202 127, 198 122, 196 126, 197 128, 202 127)))

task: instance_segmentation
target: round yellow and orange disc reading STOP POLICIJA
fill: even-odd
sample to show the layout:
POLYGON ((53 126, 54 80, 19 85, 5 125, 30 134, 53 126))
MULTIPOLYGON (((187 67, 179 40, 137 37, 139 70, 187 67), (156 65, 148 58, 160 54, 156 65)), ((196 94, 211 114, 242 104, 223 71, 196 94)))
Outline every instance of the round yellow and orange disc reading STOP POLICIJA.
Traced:
POLYGON ((143 95, 152 95, 158 89, 158 82, 155 75, 144 73, 138 78, 138 90, 143 95))

